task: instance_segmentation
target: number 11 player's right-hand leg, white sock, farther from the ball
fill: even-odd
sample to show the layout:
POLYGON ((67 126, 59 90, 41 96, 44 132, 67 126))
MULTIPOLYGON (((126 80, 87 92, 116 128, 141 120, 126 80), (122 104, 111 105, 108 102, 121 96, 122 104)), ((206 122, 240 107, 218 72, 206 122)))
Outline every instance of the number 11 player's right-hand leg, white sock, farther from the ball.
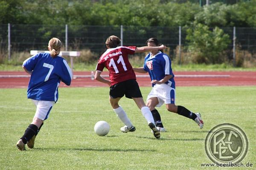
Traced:
POLYGON ((159 139, 160 138, 160 132, 157 130, 157 127, 154 123, 154 118, 152 116, 152 113, 148 106, 145 105, 145 102, 142 97, 133 98, 134 102, 137 104, 138 108, 140 108, 141 113, 145 117, 145 119, 148 121, 148 126, 153 130, 154 136, 159 139))

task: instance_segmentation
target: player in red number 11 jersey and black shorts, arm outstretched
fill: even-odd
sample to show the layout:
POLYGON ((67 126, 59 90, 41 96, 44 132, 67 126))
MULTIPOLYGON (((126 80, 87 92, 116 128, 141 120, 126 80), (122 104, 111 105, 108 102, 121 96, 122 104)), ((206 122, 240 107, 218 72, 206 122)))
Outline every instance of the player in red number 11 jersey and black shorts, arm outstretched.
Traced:
POLYGON ((140 87, 136 81, 136 75, 128 60, 128 54, 142 53, 145 51, 162 50, 166 46, 161 45, 158 47, 136 47, 136 46, 119 46, 121 40, 119 37, 111 35, 106 40, 107 51, 102 54, 99 62, 96 66, 95 79, 99 82, 106 83, 110 86, 109 100, 116 115, 125 124, 120 130, 124 133, 133 132, 136 128, 132 125, 128 119, 127 114, 118 105, 119 100, 125 95, 129 99, 134 99, 134 102, 140 108, 143 116, 148 121, 148 126, 153 131, 154 136, 159 139, 160 132, 157 130, 154 123, 154 118, 149 108, 143 101, 140 87), (104 79, 101 76, 103 68, 107 68, 109 71, 110 80, 104 79))

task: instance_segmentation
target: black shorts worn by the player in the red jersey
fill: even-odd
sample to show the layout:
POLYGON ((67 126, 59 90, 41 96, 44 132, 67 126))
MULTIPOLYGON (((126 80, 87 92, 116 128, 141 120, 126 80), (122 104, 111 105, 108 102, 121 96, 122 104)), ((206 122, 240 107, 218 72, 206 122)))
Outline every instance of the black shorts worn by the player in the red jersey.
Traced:
POLYGON ((140 87, 135 79, 129 79, 124 82, 111 85, 109 95, 113 99, 124 95, 129 99, 142 97, 140 87))

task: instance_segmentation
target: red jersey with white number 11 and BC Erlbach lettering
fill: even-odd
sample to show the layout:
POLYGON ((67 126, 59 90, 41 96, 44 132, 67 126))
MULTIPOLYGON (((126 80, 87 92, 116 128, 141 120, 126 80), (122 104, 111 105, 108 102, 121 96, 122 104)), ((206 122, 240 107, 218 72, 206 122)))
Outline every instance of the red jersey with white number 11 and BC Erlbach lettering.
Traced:
POLYGON ((100 57, 96 70, 103 71, 104 67, 107 68, 111 85, 128 79, 136 79, 136 75, 128 60, 128 54, 134 54, 135 49, 136 46, 119 46, 107 49, 100 57))

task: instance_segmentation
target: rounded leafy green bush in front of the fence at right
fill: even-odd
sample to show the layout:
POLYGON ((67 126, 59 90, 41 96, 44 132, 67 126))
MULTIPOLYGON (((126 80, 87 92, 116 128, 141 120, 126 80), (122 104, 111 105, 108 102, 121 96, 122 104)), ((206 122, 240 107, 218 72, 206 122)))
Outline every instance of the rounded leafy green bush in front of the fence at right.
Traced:
POLYGON ((191 53, 192 62, 195 63, 221 63, 225 60, 224 53, 230 43, 229 35, 215 27, 212 31, 208 26, 195 24, 187 29, 186 40, 188 52, 191 53))

